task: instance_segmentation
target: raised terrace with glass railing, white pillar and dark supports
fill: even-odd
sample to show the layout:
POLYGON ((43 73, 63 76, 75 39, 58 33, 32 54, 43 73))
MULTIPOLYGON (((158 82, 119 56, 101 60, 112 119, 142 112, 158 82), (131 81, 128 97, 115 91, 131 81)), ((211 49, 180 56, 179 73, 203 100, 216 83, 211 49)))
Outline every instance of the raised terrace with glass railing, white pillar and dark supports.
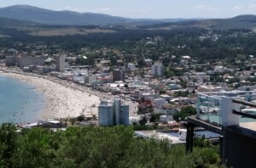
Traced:
POLYGON ((256 104, 243 100, 248 100, 248 94, 250 101, 255 100, 256 92, 198 93, 198 115, 187 119, 186 150, 192 152, 194 128, 199 126, 220 135, 220 157, 225 165, 255 167, 256 115, 241 111, 241 106, 256 108, 256 104))

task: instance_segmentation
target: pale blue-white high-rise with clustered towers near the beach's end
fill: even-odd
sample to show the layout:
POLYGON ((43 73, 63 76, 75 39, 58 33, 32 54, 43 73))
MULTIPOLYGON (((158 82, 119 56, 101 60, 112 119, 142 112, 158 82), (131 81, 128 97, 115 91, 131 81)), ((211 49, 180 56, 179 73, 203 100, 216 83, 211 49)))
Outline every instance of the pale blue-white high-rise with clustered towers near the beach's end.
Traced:
POLYGON ((99 105, 99 125, 129 125, 129 105, 122 104, 120 98, 113 102, 102 100, 99 105))

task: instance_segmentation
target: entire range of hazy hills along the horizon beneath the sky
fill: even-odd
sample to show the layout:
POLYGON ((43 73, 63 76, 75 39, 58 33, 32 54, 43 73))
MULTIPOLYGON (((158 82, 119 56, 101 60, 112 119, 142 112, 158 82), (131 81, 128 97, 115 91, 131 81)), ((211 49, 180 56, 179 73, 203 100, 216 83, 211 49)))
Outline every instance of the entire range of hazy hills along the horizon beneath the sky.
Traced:
POLYGON ((0 8, 0 26, 21 25, 137 25, 146 29, 199 27, 205 29, 254 29, 256 15, 240 15, 230 19, 130 19, 108 14, 53 11, 28 5, 0 8), (10 19, 10 20, 9 20, 10 19), (38 24, 36 24, 38 23, 38 24))

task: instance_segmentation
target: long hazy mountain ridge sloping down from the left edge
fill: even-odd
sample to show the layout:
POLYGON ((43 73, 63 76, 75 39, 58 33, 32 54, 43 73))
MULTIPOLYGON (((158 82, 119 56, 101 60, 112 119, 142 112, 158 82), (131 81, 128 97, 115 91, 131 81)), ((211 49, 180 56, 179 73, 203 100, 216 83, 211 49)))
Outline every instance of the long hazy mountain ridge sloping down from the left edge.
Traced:
POLYGON ((152 25, 163 22, 177 22, 183 19, 129 19, 108 14, 77 13, 71 11, 53 11, 28 5, 15 5, 0 8, 0 17, 28 20, 49 25, 152 25))

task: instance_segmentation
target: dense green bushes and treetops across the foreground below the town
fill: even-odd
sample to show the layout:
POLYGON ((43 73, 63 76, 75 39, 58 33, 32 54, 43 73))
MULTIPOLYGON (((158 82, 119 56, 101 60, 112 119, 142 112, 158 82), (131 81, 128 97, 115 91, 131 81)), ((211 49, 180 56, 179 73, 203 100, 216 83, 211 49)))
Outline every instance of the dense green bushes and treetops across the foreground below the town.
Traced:
POLYGON ((166 141, 134 137, 132 127, 15 131, 11 124, 0 127, 0 167, 220 166, 216 149, 208 143, 204 148, 195 148, 193 154, 185 154, 183 145, 171 148, 166 141))

